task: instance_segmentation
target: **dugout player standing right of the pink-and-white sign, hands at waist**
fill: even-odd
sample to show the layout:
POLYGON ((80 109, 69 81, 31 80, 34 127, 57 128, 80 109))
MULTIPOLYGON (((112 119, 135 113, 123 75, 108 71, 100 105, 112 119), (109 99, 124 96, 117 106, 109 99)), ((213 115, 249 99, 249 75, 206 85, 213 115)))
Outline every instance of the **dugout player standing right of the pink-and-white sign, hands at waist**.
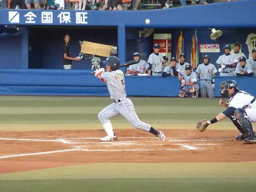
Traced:
POLYGON ((235 68, 238 60, 230 54, 230 44, 225 44, 223 49, 225 54, 221 55, 216 61, 220 76, 236 76, 235 68))

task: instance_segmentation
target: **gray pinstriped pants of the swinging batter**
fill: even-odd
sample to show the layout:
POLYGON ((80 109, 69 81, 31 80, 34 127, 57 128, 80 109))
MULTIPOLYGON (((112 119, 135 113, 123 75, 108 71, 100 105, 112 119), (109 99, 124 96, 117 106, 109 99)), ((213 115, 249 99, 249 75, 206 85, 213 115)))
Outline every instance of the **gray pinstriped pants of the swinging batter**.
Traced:
POLYGON ((138 118, 133 103, 129 98, 126 98, 119 103, 112 103, 109 106, 106 106, 98 114, 98 118, 103 125, 105 123, 110 123, 109 118, 116 117, 120 114, 135 128, 149 132, 151 125, 142 122, 138 118))

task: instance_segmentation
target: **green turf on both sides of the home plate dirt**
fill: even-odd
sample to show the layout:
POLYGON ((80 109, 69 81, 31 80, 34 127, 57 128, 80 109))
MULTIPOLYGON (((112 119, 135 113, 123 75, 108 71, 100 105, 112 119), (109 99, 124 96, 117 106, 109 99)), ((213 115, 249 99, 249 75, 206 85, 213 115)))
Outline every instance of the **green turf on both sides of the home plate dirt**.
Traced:
MULTIPOLYGON (((142 121, 161 129, 195 129, 197 121, 224 110, 219 99, 131 100, 142 121)), ((102 129, 97 114, 111 102, 108 97, 0 96, 0 130, 102 129)), ((112 123, 115 129, 133 129, 122 116, 112 123)), ((234 130, 228 119, 211 128, 234 130)), ((245 157, 248 160, 250 156, 245 157)), ((0 174, 0 191, 251 192, 256 191, 254 171, 256 162, 85 164, 0 174)))

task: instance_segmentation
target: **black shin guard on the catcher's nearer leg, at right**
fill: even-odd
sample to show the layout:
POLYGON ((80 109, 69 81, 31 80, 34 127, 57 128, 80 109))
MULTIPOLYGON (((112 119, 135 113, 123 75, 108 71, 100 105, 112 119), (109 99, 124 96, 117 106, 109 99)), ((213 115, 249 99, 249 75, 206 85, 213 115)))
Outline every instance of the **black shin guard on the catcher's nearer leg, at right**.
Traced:
POLYGON ((252 123, 248 119, 245 110, 242 108, 237 108, 234 112, 234 115, 236 116, 237 120, 241 124, 241 127, 244 130, 244 134, 248 138, 255 138, 254 130, 252 128, 252 123))

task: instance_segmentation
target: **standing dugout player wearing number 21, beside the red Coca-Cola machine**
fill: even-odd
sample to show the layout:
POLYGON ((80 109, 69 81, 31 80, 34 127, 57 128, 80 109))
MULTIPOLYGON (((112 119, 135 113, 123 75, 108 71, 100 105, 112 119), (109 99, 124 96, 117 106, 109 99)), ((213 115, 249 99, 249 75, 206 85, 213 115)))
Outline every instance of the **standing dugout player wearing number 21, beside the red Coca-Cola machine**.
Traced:
POLYGON ((149 64, 148 75, 151 74, 151 71, 152 71, 153 76, 162 76, 162 71, 163 71, 162 63, 164 61, 164 58, 162 54, 159 53, 160 44, 155 43, 153 48, 154 48, 154 53, 150 54, 148 58, 148 64, 149 64))

